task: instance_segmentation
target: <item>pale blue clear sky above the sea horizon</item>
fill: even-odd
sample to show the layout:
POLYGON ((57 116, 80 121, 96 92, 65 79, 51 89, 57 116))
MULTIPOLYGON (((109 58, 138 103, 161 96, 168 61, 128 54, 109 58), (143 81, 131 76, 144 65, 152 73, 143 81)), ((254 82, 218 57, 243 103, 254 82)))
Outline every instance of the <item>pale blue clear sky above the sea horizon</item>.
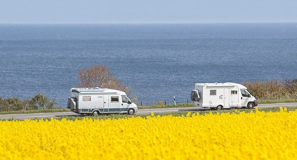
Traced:
POLYGON ((0 0, 0 23, 297 22, 296 0, 0 0))

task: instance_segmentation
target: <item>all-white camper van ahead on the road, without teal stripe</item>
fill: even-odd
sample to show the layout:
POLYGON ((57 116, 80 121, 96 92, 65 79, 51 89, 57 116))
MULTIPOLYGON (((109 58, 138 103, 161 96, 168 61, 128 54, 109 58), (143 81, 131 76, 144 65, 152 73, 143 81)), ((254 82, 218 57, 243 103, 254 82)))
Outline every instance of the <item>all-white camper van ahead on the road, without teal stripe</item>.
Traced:
POLYGON ((196 83, 191 91, 195 106, 221 110, 223 108, 249 108, 258 105, 244 85, 237 83, 196 83))

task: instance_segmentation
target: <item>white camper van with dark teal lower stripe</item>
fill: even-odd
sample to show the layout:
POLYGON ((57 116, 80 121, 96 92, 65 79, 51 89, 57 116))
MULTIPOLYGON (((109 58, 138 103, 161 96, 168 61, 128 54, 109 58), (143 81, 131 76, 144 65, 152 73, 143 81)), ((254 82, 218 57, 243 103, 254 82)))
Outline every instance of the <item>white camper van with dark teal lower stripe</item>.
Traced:
POLYGON ((71 88, 67 108, 77 114, 97 116, 101 113, 137 112, 137 105, 123 91, 108 88, 71 88))

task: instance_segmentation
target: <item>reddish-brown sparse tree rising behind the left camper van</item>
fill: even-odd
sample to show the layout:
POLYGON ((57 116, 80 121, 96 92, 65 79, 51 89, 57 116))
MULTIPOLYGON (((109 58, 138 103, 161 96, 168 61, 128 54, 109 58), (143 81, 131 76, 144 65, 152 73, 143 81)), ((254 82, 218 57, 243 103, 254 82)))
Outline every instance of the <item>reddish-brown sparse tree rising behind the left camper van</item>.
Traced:
POLYGON ((113 73, 105 65, 92 65, 89 68, 80 69, 78 79, 77 87, 116 89, 125 92, 131 101, 138 103, 132 87, 125 86, 118 78, 113 77, 113 73))

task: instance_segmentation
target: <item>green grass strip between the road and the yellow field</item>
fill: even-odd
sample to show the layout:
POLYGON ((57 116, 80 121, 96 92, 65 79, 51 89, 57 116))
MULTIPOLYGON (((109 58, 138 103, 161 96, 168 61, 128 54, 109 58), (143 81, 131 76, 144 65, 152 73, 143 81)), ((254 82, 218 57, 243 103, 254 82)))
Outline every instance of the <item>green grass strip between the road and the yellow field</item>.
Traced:
MULTIPOLYGON (((200 115, 205 115, 206 113, 209 114, 210 112, 213 114, 217 114, 218 113, 233 113, 235 112, 236 109, 225 109, 225 110, 220 110, 220 111, 190 111, 191 115, 193 113, 199 113, 200 115)), ((245 112, 245 113, 249 113, 251 112, 251 110, 249 109, 237 109, 240 112, 245 112)), ((255 111, 255 109, 252 109, 253 111, 255 111)), ((288 107, 287 111, 295 111, 297 110, 297 107, 288 107)), ((259 111, 264 111, 264 112, 278 112, 279 111, 279 107, 272 107, 272 108, 259 108, 259 111)), ((155 116, 165 116, 165 115, 173 115, 173 116, 186 116, 189 113, 189 111, 181 111, 181 112, 168 112, 168 113, 154 113, 155 116)), ((67 120, 72 120, 75 121, 77 120, 81 120, 83 118, 92 118, 92 119, 119 119, 119 118, 132 118, 133 117, 142 117, 142 118, 146 118, 147 116, 151 116, 151 113, 149 114, 144 114, 144 115, 127 115, 127 114, 103 114, 103 115, 98 115, 97 117, 94 116, 83 116, 83 115, 78 115, 78 116, 62 116, 59 118, 56 118, 58 120, 62 120, 63 118, 66 118, 67 120)), ((50 121, 51 118, 36 118, 36 119, 43 119, 50 121)), ((8 121, 12 121, 12 120, 19 120, 19 119, 8 119, 8 121)), ((33 120, 33 119, 31 119, 33 120)), ((23 121, 23 120, 19 120, 19 121, 23 121)))

